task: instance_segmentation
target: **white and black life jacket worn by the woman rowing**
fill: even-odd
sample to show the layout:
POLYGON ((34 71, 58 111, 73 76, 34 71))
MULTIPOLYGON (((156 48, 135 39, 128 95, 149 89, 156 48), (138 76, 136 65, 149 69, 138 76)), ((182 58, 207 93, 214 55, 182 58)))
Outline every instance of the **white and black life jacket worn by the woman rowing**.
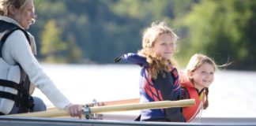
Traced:
POLYGON ((27 31, 15 24, 0 20, 0 115, 27 113, 33 108, 33 100, 29 95, 28 75, 21 65, 9 65, 2 57, 3 44, 8 36, 16 30, 23 31, 30 43, 27 31))

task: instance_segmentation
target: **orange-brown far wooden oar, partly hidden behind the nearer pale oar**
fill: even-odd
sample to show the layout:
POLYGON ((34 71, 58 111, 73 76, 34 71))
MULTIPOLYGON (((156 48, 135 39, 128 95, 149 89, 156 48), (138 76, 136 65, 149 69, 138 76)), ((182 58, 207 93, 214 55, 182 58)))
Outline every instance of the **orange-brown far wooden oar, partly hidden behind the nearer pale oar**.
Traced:
MULTIPOLYGON (((140 98, 130 98, 130 99, 122 99, 116 101, 107 101, 107 102, 92 102, 88 103, 89 107, 92 106, 113 106, 113 105, 120 105, 120 104, 132 104, 140 102, 140 98), (96 105, 95 105, 96 104, 96 105)), ((47 110, 57 110, 55 107, 47 108, 47 110)))

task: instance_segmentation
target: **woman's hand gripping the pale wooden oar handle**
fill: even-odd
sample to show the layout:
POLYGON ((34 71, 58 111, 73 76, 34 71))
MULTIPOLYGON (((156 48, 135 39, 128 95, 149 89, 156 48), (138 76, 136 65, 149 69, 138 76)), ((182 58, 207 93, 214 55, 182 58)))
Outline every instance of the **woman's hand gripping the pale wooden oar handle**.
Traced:
POLYGON ((82 114, 82 105, 78 104, 70 104, 66 106, 64 109, 70 113, 70 117, 79 117, 81 119, 82 114))

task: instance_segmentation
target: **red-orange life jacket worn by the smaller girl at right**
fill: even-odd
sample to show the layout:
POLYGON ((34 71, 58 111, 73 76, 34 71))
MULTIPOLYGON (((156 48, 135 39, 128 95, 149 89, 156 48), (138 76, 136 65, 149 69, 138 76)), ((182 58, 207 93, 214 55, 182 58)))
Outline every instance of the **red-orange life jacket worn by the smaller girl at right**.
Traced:
POLYGON ((205 104, 205 90, 198 92, 198 90, 194 87, 194 84, 187 80, 186 82, 182 82, 183 88, 183 98, 194 98, 195 106, 183 107, 183 117, 187 122, 190 122, 198 115, 198 113, 203 109, 203 105, 205 104))

